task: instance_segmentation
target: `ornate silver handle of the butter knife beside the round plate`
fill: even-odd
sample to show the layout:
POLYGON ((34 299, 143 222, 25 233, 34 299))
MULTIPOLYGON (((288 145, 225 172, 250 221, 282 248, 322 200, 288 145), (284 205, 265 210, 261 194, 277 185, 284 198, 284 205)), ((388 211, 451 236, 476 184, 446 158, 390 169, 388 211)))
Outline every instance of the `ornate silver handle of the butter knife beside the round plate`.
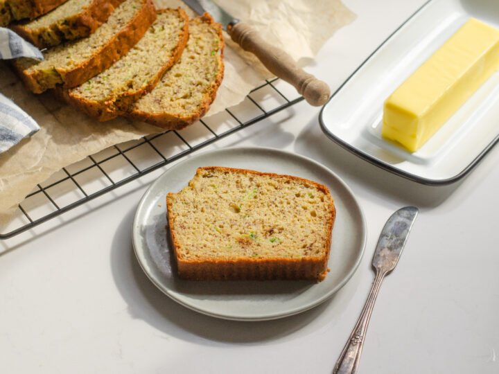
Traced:
POLYGON ((357 371, 358 363, 360 361, 360 353, 364 346, 364 339, 371 319, 371 312, 374 308, 374 301, 380 289, 381 281, 385 278, 386 271, 376 271, 376 278, 371 287, 371 292, 367 296, 367 301, 360 313, 360 317, 356 323, 355 328, 345 344, 338 361, 335 364, 333 374, 353 374, 357 371))

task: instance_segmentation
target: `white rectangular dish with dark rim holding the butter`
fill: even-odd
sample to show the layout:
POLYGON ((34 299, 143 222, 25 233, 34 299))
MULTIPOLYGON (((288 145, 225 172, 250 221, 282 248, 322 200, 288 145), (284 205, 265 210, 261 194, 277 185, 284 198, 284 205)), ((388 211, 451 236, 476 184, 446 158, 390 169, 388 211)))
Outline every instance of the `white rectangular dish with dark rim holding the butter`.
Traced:
POLYGON ((497 0, 432 0, 342 84, 319 116, 336 143, 390 172, 429 185, 464 177, 499 140, 499 72, 417 152, 381 137, 383 102, 470 17, 499 28, 497 0))

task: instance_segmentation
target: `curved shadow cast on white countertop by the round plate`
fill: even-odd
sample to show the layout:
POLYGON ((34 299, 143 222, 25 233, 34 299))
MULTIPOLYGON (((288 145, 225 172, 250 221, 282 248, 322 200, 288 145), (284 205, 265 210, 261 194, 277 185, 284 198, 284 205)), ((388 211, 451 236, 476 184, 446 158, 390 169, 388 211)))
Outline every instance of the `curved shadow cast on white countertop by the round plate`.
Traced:
MULTIPOLYGON (((132 208, 123 217, 114 234, 110 258, 112 275, 116 287, 128 303, 128 312, 132 318, 141 319, 168 336, 210 345, 213 345, 213 341, 220 344, 261 344, 276 339, 291 339, 290 335, 295 332, 308 334, 310 329, 321 328, 315 320, 333 300, 348 303, 351 298, 351 292, 340 290, 322 305, 272 321, 228 321, 194 312, 163 294, 141 269, 132 247, 134 212, 135 208, 132 208), (124 242, 129 244, 123 247, 124 242)), ((350 283, 356 283, 354 278, 350 283)), ((329 319, 320 320, 331 323, 329 319)))

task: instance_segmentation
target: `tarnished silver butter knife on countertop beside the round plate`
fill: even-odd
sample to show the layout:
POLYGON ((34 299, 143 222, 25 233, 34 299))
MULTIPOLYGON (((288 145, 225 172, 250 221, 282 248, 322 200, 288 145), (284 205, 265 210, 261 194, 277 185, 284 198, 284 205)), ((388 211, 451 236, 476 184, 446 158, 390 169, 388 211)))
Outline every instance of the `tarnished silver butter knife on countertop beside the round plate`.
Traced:
POLYGON ((418 208, 406 206, 401 208, 389 217, 380 238, 372 260, 372 266, 376 270, 376 278, 367 297, 364 309, 360 313, 355 328, 345 344, 340 358, 335 364, 333 374, 350 374, 357 371, 360 361, 360 353, 364 346, 364 339, 367 332, 367 325, 374 308, 374 301, 380 289, 381 281, 385 275, 389 274, 399 262, 402 249, 407 241, 409 231, 416 219, 418 208))

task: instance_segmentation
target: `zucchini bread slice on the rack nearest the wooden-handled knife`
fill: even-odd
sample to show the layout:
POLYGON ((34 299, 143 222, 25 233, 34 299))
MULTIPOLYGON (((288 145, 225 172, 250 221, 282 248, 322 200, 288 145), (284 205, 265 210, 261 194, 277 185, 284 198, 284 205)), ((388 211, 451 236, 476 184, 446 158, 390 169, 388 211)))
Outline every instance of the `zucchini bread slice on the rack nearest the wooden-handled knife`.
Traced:
POLYGON ((222 28, 204 13, 189 21, 189 34, 180 61, 130 107, 127 116, 180 130, 208 111, 224 73, 222 28))

